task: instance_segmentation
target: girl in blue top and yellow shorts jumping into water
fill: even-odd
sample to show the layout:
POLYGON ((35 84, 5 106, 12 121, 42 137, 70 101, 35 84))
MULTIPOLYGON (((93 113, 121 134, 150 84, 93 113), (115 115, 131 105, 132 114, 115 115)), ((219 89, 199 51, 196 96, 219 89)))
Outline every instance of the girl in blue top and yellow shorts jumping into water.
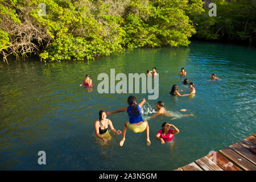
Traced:
POLYGON ((127 111, 129 115, 129 121, 125 122, 123 125, 123 137, 122 140, 119 142, 119 145, 122 147, 123 143, 125 142, 125 135, 127 128, 133 133, 142 133, 144 130, 146 130, 146 140, 147 145, 149 146, 151 144, 150 137, 149 137, 149 126, 147 121, 143 121, 141 116, 141 107, 146 102, 146 100, 143 98, 142 102, 140 104, 137 104, 137 99, 135 96, 129 96, 127 99, 128 107, 123 107, 122 109, 118 109, 112 112, 107 112, 107 114, 114 114, 119 113, 123 111, 127 111))

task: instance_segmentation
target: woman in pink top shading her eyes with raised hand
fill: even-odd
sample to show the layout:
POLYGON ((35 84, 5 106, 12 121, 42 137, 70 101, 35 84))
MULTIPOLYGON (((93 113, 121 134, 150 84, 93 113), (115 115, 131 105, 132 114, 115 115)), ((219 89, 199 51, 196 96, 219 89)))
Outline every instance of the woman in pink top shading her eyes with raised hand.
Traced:
POLYGON ((158 133, 155 135, 155 138, 160 140, 161 144, 164 144, 164 142, 172 142, 174 135, 179 132, 180 130, 177 129, 174 125, 164 122, 162 129, 158 131, 158 133), (173 127, 174 129, 170 129, 170 127, 173 127))

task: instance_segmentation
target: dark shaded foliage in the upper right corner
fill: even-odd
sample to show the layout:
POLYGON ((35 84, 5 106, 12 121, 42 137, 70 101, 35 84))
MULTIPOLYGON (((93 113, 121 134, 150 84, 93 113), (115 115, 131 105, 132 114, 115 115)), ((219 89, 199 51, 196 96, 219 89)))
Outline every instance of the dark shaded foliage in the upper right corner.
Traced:
POLYGON ((196 36, 207 40, 225 40, 255 45, 256 1, 255 0, 213 0, 217 16, 205 13, 195 16, 196 36))

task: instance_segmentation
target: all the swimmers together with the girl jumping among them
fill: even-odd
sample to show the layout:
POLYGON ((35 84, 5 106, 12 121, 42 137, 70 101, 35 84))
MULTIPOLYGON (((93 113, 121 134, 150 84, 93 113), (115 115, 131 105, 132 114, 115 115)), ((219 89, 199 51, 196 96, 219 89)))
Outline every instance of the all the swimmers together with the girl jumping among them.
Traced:
MULTIPOLYGON (((158 73, 156 73, 156 68, 152 68, 152 73, 147 70, 147 76, 157 76, 158 73)), ((187 72, 185 72, 184 68, 181 68, 181 71, 179 73, 179 75, 181 76, 185 76, 187 75, 187 72)), ((216 77, 214 75, 214 73, 212 74, 212 79, 211 81, 214 80, 220 80, 218 77, 216 77)), ((187 85, 188 84, 188 78, 185 78, 183 81, 183 84, 187 85)), ((89 75, 86 75, 86 78, 83 82, 83 84, 80 84, 80 86, 92 86, 92 79, 90 79, 89 75)), ((177 85, 173 85, 172 86, 172 90, 171 90, 171 95, 173 96, 190 96, 192 94, 196 93, 196 88, 195 85, 193 84, 193 82, 189 83, 189 94, 183 94, 181 95, 179 92, 184 92, 184 90, 177 90, 177 85)), ((126 137, 126 131, 127 129, 129 129, 130 131, 132 131, 133 133, 142 133, 143 131, 146 130, 146 141, 147 141, 147 145, 149 146, 151 144, 150 141, 150 137, 149 137, 149 125, 148 125, 148 121, 143 121, 142 119, 142 115, 141 115, 141 107, 142 105, 146 102, 146 100, 143 98, 142 102, 138 104, 137 99, 135 96, 129 96, 127 98, 127 104, 128 106, 123 107, 122 109, 117 109, 114 111, 104 111, 104 110, 100 110, 99 114, 99 119, 94 123, 94 130, 95 133, 97 135, 97 137, 99 139, 101 139, 103 142, 106 142, 108 140, 108 136, 109 135, 109 127, 110 130, 117 135, 122 134, 122 139, 119 142, 119 146, 123 146, 123 143, 125 142, 125 137, 126 137), (109 114, 115 114, 115 113, 120 113, 126 111, 127 114, 129 115, 129 121, 125 122, 123 125, 123 132, 120 130, 115 130, 113 127, 113 123, 112 121, 110 121, 110 119, 107 117, 107 115, 109 114)), ((156 116, 163 114, 166 116, 170 116, 170 113, 168 113, 166 111, 166 109, 164 109, 164 102, 163 101, 158 101, 156 104, 156 108, 158 109, 158 113, 152 115, 150 117, 151 118, 155 118, 156 116)), ((183 109, 181 111, 186 111, 186 109, 183 109)), ((193 114, 185 114, 184 116, 193 116, 193 114)), ((156 135, 155 138, 157 140, 160 140, 160 143, 164 144, 165 142, 172 142, 173 136, 177 133, 179 133, 179 129, 177 129, 176 126, 164 122, 162 124, 162 129, 160 129, 156 135), (171 129, 172 127, 172 129, 171 129)))

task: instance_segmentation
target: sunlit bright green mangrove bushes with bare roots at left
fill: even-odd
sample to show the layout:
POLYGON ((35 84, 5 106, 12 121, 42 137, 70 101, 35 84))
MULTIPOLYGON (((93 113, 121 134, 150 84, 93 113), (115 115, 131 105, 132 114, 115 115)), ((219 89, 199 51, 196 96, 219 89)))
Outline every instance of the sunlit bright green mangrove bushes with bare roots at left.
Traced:
POLYGON ((1 54, 36 53, 50 61, 94 59, 134 46, 188 46, 195 34, 188 15, 203 11, 201 0, 0 2, 1 54))

